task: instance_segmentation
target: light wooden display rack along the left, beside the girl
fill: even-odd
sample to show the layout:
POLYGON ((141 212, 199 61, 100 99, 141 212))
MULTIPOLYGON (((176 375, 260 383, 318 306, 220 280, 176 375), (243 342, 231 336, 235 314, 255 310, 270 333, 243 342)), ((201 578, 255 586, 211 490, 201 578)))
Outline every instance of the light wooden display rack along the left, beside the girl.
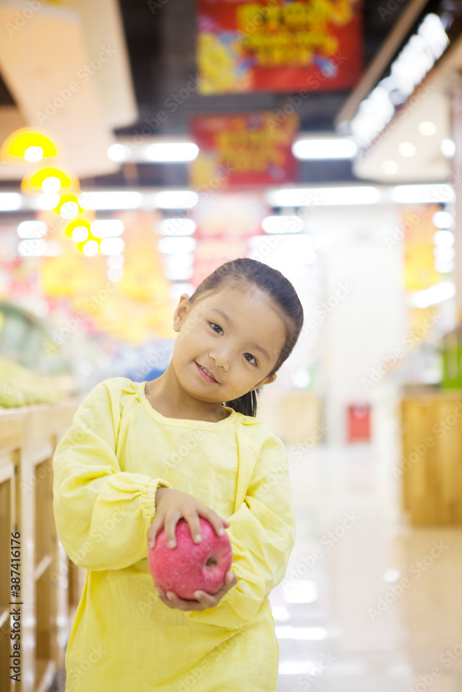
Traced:
POLYGON ((46 692, 64 668, 86 571, 71 563, 53 517, 53 454, 77 399, 0 410, 0 689, 46 692), (21 682, 10 680, 11 534, 20 535, 21 682))

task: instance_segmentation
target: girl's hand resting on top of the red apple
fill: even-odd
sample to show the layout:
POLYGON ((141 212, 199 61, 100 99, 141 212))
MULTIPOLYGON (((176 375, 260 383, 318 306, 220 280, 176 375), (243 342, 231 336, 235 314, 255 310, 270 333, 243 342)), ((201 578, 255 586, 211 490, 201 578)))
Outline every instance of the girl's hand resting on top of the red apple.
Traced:
POLYGON ((148 545, 154 547, 156 536, 162 526, 166 531, 166 543, 168 548, 175 548, 175 527, 182 517, 188 522, 194 543, 202 540, 202 531, 199 516, 211 523, 218 536, 224 534, 224 529, 229 528, 229 521, 220 518, 216 512, 206 504, 202 504, 193 495, 183 493, 181 490, 161 487, 156 491, 156 517, 148 531, 148 545))

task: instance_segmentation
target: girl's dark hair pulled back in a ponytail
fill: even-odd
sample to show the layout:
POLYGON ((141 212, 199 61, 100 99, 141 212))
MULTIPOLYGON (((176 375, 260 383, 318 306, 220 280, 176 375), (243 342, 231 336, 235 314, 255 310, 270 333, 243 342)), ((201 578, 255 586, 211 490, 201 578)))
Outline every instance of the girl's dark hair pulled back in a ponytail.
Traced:
MULTIPOLYGON (((286 337, 278 361, 272 372, 269 373, 269 376, 273 375, 290 356, 303 325, 303 308, 294 286, 277 269, 248 257, 238 257, 237 260, 225 262, 208 275, 202 284, 197 286, 190 297, 190 302, 193 303, 197 298, 201 298, 203 293, 215 291, 218 286, 225 282, 235 286, 242 286, 244 282, 247 282, 251 286, 256 286, 274 302, 278 312, 281 313, 281 317, 285 321, 286 337)), ((255 417, 259 392, 260 388, 257 388, 238 399, 224 403, 238 413, 255 417)))

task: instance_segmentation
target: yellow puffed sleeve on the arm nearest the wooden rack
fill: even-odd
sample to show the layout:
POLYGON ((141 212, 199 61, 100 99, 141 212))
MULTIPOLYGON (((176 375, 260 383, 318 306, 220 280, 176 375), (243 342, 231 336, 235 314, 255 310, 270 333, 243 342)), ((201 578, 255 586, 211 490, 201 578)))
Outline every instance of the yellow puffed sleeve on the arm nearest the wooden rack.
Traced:
POLYGON ((121 570, 148 554, 161 478, 126 473, 116 457, 120 401, 111 380, 80 403, 53 455, 53 512, 71 560, 88 570, 121 570))

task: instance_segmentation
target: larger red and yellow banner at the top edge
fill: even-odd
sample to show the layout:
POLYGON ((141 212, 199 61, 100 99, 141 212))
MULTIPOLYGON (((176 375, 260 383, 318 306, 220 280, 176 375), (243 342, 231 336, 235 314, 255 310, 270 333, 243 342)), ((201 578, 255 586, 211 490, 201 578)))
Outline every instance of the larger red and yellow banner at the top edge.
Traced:
POLYGON ((199 0, 199 93, 349 89, 362 73, 361 0, 199 0))

